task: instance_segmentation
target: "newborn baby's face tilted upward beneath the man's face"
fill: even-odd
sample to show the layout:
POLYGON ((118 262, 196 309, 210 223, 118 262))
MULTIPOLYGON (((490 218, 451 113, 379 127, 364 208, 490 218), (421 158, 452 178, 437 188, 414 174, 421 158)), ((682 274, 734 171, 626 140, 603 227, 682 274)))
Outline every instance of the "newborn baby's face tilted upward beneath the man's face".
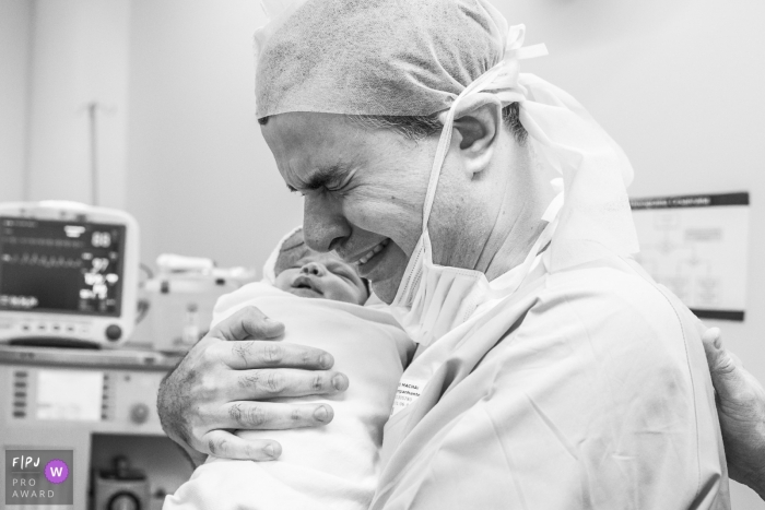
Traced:
POLYGON ((276 276, 276 287, 301 297, 364 305, 369 297, 356 269, 332 252, 309 252, 276 276))

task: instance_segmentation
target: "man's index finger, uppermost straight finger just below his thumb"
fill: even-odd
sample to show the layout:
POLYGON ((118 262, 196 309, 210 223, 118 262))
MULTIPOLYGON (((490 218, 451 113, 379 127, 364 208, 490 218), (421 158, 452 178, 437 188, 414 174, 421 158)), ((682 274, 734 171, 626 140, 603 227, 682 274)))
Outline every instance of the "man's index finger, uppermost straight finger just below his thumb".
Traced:
POLYGON ((283 342, 222 342, 216 348, 223 363, 236 370, 269 367, 323 370, 334 365, 334 358, 325 351, 283 342))

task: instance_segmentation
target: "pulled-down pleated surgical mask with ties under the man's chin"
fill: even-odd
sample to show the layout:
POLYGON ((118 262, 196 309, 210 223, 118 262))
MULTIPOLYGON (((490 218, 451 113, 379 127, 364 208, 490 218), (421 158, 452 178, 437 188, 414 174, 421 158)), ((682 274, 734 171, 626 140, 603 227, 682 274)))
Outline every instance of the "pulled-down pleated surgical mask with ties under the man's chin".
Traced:
MULTIPOLYGON (((543 47, 531 47, 523 48, 526 52, 521 55, 522 34, 520 37, 516 37, 515 40, 518 46, 508 48, 508 57, 514 60, 536 57, 546 52, 543 47)), ((510 66, 510 72, 513 72, 513 69, 510 66)), ((491 87, 497 80, 506 80, 507 71, 507 61, 503 61, 471 83, 456 98, 444 122, 444 130, 438 142, 425 194, 422 234, 409 259, 407 270, 390 307, 390 311, 404 331, 414 342, 421 345, 427 346, 462 324, 484 303, 508 296, 518 289, 530 272, 536 256, 552 238, 554 227, 552 224, 549 224, 529 251, 523 263, 492 283, 480 271, 444 266, 433 262, 433 249, 427 223, 446 153, 451 142, 456 109, 463 97, 491 87)), ((516 76, 510 78, 515 79, 516 76)), ((522 96, 515 98, 522 99, 522 96)), ((561 202, 562 200, 555 201, 557 209, 560 209, 561 202)), ((557 209, 554 212, 557 212, 557 209)), ((549 210, 545 216, 550 215, 550 213, 551 211, 549 210)))

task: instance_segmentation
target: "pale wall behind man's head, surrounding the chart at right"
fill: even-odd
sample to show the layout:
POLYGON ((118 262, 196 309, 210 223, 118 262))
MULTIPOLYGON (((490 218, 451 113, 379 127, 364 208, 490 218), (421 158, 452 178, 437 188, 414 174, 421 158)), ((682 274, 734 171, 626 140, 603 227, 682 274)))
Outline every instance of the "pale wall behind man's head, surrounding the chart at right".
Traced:
MULTIPOLYGON (((493 0, 550 57, 525 62, 574 94, 635 166, 634 197, 750 191, 748 317, 714 322, 765 382, 765 3, 493 0)), ((733 484, 733 509, 765 509, 733 484)))

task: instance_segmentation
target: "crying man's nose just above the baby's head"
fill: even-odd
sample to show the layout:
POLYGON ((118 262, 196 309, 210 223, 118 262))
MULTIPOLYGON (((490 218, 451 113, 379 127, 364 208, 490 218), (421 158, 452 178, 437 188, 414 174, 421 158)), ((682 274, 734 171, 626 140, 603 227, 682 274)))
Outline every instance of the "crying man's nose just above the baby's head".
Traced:
POLYGON ((306 195, 303 207, 303 238, 314 251, 332 251, 351 235, 338 198, 328 193, 306 195))

